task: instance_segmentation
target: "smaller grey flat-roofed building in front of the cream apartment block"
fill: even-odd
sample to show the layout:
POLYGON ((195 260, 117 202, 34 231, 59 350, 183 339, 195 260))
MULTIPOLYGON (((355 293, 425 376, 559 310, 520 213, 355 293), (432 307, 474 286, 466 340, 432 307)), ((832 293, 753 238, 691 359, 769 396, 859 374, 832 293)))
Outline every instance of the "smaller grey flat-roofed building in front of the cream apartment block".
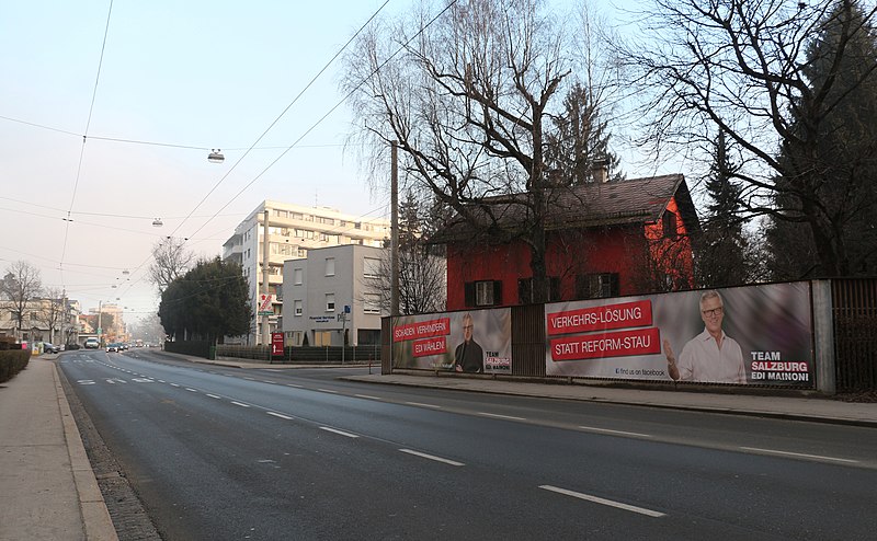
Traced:
POLYGON ((386 249, 346 245, 308 251, 284 263, 283 333, 287 345, 380 344, 377 286, 386 249), (307 336, 307 338, 306 338, 307 336))

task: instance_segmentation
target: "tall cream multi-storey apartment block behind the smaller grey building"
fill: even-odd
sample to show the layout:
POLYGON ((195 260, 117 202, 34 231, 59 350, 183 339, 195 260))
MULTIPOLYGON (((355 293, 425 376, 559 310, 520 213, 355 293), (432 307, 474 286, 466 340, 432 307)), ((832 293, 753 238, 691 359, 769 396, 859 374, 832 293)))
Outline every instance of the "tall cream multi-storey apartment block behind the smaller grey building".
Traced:
POLYGON ((249 344, 262 336, 262 318, 258 315, 262 287, 264 216, 267 210, 269 292, 274 295, 273 314, 269 316, 271 332, 283 329, 283 269, 287 260, 307 257, 315 249, 362 245, 379 248, 390 237, 390 222, 365 219, 324 207, 305 207, 289 203, 264 200, 235 228, 235 234, 223 244, 223 260, 241 265, 250 284, 253 322, 249 344))

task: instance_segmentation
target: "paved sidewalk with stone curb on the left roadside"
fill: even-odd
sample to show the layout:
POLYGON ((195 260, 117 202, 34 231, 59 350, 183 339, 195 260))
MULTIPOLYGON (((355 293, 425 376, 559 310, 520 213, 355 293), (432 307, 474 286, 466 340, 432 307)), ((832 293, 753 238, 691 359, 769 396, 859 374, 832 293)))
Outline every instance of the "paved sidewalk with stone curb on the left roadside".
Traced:
POLYGON ((117 540, 54 357, 0 384, 0 540, 117 540))

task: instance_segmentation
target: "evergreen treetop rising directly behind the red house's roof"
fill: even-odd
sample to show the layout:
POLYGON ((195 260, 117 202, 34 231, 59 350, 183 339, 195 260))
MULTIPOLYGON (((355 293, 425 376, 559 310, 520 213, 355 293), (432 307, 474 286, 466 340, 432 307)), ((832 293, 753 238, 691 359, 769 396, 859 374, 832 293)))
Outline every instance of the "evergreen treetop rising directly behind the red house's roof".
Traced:
POLYGON ((563 99, 563 112, 551 118, 554 131, 546 136, 546 161, 554 183, 577 186, 593 182, 594 165, 602 161, 608 180, 619 181, 620 160, 610 151, 608 123, 589 88, 577 82, 563 99))

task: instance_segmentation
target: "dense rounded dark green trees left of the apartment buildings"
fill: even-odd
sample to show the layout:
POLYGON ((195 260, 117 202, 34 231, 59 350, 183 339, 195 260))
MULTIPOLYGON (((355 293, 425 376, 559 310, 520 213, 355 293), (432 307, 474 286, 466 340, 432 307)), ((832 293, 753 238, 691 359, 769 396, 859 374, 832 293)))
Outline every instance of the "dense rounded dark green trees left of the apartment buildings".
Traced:
POLYGON ((252 306, 240 266, 216 257, 202 261, 161 293, 159 318, 178 337, 215 341, 250 330, 252 306))

